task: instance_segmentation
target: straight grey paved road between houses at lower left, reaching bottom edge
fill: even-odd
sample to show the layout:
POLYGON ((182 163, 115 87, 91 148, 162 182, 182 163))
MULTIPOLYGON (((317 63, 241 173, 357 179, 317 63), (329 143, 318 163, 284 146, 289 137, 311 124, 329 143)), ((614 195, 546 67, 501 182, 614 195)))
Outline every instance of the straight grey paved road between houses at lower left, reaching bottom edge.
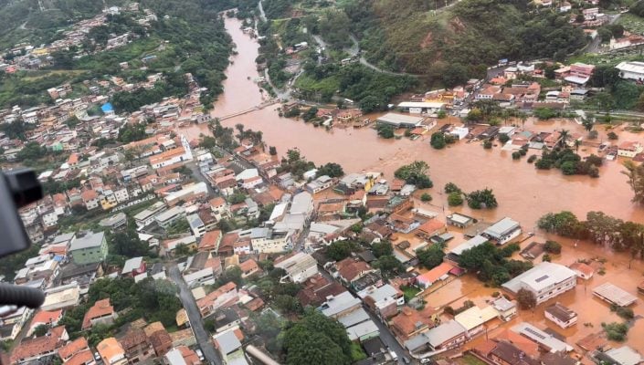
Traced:
POLYGON ((181 304, 184 306, 185 311, 190 318, 190 327, 193 329, 195 338, 199 347, 204 352, 206 360, 211 365, 223 365, 223 361, 219 359, 219 354, 215 350, 213 342, 210 340, 210 335, 206 332, 204 328, 204 321, 201 319, 201 313, 199 308, 196 307, 195 297, 193 297, 192 292, 187 285, 181 274, 179 273, 179 267, 176 264, 168 264, 167 272, 170 279, 179 287, 179 298, 181 299, 181 304))

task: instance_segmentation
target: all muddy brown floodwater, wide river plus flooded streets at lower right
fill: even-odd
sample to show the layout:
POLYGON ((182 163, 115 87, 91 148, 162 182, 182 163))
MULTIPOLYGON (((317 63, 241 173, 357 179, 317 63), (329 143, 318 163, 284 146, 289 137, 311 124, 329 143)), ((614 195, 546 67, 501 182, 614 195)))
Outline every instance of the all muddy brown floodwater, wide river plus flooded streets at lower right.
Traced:
MULTIPOLYGON (((237 19, 227 19, 227 31, 237 45, 238 55, 233 57, 233 64, 227 69, 227 80, 224 81, 224 94, 216 101, 213 117, 223 117, 241 110, 248 110, 265 100, 265 95, 252 79, 258 76, 255 58, 258 56, 258 43, 240 30, 237 19)), ((451 120, 452 122, 456 120, 451 120)), ((495 220, 502 216, 512 216, 520 221, 526 232, 532 231, 536 220, 548 212, 569 210, 584 218, 588 211, 601 210, 626 220, 644 222, 644 210, 630 202, 632 193, 627 178, 620 173, 623 169, 620 162, 606 162, 600 168, 600 177, 592 179, 587 176, 564 176, 561 172, 537 171, 524 157, 512 161, 511 153, 501 151, 499 146, 491 151, 483 150, 480 143, 461 141, 449 148, 436 151, 428 143, 428 136, 417 141, 383 140, 377 138, 375 130, 364 128, 324 130, 314 128, 301 120, 280 118, 277 105, 264 110, 257 110, 237 118, 222 122, 228 127, 242 123, 247 128, 261 130, 264 141, 276 146, 280 154, 292 148, 298 148, 310 161, 317 164, 339 162, 345 172, 377 171, 384 172, 385 178, 391 179, 393 172, 402 164, 414 160, 423 160, 430 166, 430 176, 435 188, 430 189, 434 197, 432 205, 437 211, 449 212, 447 199, 442 192, 445 183, 453 182, 464 191, 490 187, 499 201, 499 208, 491 211, 470 212, 466 207, 458 208, 466 214, 486 220, 495 220)), ((581 126, 568 120, 534 121, 528 120, 526 130, 571 130, 585 135, 581 126)), ((191 126, 183 133, 189 139, 198 138, 200 133, 210 134, 206 125, 191 126)), ((606 141, 606 130, 599 130, 600 138, 606 141)), ((620 141, 643 141, 641 136, 618 130, 620 141)), ((593 149, 581 154, 589 154, 593 149)), ((529 151, 528 155, 536 153, 529 151)), ((442 213, 442 212, 441 212, 442 213)), ((545 237, 540 237, 545 239, 545 237)), ((606 275, 596 275, 587 283, 580 283, 575 291, 566 293, 557 299, 579 313, 579 324, 574 328, 562 330, 544 320, 543 308, 540 306, 534 313, 521 313, 523 320, 531 321, 544 328, 546 325, 555 328, 574 344, 588 333, 599 331, 602 321, 618 320, 610 312, 608 305, 592 295, 592 288, 611 281, 628 292, 637 293, 637 285, 644 279, 641 261, 632 262, 628 268, 628 255, 612 253, 603 247, 557 238, 564 244, 564 254, 555 256, 554 261, 569 265, 578 258, 603 257, 606 275), (588 325, 584 326, 584 323, 588 325), (592 327, 591 327, 592 326, 592 327)), ((527 245, 530 240, 523 243, 527 245)), ((540 259, 539 259, 540 261, 540 259)), ((448 303, 457 306, 466 298, 483 305, 491 293, 497 289, 483 287, 474 276, 463 276, 454 280, 437 292, 426 297, 428 305, 440 307, 448 303)), ((641 299, 641 298, 640 298, 641 299)), ((644 306, 639 303, 633 308, 637 316, 644 316, 644 306)), ((518 319, 512 321, 517 323, 518 319)), ((508 326, 503 326, 507 328, 508 326)), ((644 352, 644 319, 639 319, 628 333, 628 345, 644 352)), ((616 344, 617 345, 617 344, 616 344)))

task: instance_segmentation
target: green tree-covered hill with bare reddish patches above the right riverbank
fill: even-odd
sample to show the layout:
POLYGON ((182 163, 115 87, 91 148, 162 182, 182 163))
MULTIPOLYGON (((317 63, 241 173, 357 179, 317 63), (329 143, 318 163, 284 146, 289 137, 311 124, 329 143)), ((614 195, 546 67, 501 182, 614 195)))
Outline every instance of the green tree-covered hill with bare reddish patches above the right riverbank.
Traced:
POLYGON ((370 62, 448 85, 480 76, 500 58, 563 59, 586 44, 566 16, 538 12, 526 0, 465 0, 438 12, 435 7, 425 0, 354 0, 344 12, 370 62))

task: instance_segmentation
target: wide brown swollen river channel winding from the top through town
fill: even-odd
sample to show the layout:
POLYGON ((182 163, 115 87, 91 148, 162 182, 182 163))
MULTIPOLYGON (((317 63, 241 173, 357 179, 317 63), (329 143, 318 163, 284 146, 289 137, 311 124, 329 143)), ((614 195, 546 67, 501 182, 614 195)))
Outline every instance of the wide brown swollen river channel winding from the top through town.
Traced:
MULTIPOLYGON (((214 117, 248 110, 265 100, 265 95, 253 82, 253 78, 259 76, 255 66, 257 41, 241 31, 241 23, 237 19, 227 19, 226 26, 237 45, 238 55, 232 58, 233 64, 227 69, 225 92, 216 101, 214 117)), ((554 170, 537 171, 526 162, 526 158, 512 161, 510 152, 501 151, 499 147, 485 151, 479 143, 461 141, 436 151, 429 146, 428 137, 417 141, 386 141, 377 138, 375 130, 368 128, 315 128, 301 120, 280 118, 277 105, 223 120, 222 123, 229 127, 242 123, 247 128, 261 130, 264 141, 276 146, 280 154, 298 148, 312 162, 341 163, 345 172, 379 171, 391 179, 398 166, 424 160, 430 166, 430 176, 436 186, 431 192, 433 203, 447 205, 446 197, 441 194, 445 183, 456 183, 464 191, 490 187, 496 194, 499 208, 473 214, 489 220, 510 215, 522 222, 526 230, 532 230, 541 215, 564 209, 582 217, 588 211, 602 210, 623 219, 644 221, 644 210, 630 202, 632 193, 626 176, 620 173, 623 167, 619 162, 607 162, 600 169, 599 179, 564 176, 554 170)), ((582 131, 576 123, 565 120, 547 123, 529 120, 526 124, 526 129, 534 131, 561 128, 582 131)), ((206 125, 200 125, 184 132, 189 138, 196 138, 208 130, 206 125)), ((468 211, 468 208, 459 209, 468 211)))

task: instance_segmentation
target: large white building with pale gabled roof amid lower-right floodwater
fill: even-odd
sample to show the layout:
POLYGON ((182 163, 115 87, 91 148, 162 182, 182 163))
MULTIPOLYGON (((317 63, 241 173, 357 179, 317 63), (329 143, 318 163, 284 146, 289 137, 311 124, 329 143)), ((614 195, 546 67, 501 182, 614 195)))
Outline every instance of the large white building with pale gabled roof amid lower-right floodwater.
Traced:
POLYGON ((575 288, 575 286, 575 271, 563 265, 549 262, 534 266, 502 285, 512 295, 516 295, 522 288, 531 291, 536 297, 537 305, 565 293, 575 288))

